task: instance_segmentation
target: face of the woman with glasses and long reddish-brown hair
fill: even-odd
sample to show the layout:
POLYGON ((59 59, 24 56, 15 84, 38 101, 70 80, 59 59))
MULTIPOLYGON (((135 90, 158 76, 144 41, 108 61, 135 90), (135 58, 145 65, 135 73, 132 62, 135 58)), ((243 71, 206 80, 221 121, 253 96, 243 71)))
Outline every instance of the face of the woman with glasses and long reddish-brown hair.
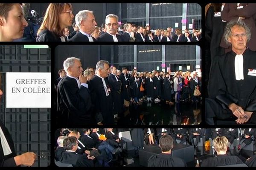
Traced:
POLYGON ((61 14, 59 15, 59 22, 60 22, 61 29, 72 26, 73 18, 74 18, 74 15, 71 8, 68 5, 66 5, 64 10, 61 11, 61 14))

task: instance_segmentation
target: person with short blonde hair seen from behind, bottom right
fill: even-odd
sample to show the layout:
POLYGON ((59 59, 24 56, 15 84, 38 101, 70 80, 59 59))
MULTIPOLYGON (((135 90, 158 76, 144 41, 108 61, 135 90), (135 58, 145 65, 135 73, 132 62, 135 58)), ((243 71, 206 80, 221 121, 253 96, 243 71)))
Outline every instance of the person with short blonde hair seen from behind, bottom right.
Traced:
POLYGON ((228 140, 225 136, 217 136, 213 140, 214 150, 217 152, 217 156, 207 158, 202 161, 201 167, 216 167, 233 164, 243 164, 243 161, 237 156, 227 155, 228 140))

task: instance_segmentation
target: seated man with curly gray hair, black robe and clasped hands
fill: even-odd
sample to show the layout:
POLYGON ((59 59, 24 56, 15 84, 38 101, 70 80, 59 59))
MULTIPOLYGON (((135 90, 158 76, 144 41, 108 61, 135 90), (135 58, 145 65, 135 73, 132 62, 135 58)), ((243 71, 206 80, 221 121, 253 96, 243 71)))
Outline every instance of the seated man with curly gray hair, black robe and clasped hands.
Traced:
POLYGON ((216 57, 211 65, 205 99, 205 119, 214 125, 214 118, 234 123, 256 123, 256 52, 247 48, 250 28, 241 20, 227 23, 225 41, 232 51, 216 57))

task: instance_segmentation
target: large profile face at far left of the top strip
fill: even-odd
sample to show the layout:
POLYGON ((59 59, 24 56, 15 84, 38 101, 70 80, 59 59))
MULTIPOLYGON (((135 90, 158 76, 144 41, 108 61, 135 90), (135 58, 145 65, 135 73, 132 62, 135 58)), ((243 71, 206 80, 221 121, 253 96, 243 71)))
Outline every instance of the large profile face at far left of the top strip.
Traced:
POLYGON ((8 12, 8 16, 0 17, 0 30, 5 41, 13 41, 23 37, 24 28, 28 26, 20 4, 15 3, 8 12))

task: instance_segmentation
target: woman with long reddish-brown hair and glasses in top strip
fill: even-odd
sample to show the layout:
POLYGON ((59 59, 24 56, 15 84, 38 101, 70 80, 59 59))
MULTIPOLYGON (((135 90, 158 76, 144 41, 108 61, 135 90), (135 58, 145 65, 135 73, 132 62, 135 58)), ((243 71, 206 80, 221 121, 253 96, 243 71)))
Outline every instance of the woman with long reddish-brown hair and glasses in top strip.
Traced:
POLYGON ((74 15, 70 3, 50 3, 44 20, 38 29, 37 41, 67 41, 64 38, 63 30, 72 25, 73 18, 74 15))

